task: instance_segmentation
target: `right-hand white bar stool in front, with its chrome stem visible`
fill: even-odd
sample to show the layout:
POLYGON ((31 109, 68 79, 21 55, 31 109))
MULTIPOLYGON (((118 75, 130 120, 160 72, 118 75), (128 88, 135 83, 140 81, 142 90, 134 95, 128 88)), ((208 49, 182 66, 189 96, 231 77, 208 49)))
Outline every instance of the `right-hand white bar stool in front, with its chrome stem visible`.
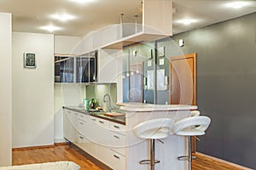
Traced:
POLYGON ((179 136, 189 137, 189 156, 179 156, 178 160, 189 161, 189 170, 191 170, 192 161, 192 145, 191 137, 204 135, 207 127, 209 127, 211 119, 207 116, 190 116, 174 123, 172 132, 179 136))

